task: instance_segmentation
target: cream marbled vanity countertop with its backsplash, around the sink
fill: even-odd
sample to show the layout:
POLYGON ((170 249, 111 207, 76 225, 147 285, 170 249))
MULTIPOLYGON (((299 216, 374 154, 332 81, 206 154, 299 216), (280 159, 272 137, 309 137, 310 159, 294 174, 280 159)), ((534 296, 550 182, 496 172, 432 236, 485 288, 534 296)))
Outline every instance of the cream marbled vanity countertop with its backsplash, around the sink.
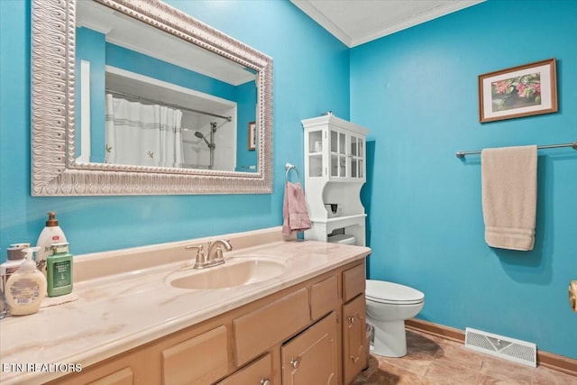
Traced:
MULTIPOLYGON (((226 289, 176 289, 169 285, 175 271, 182 270, 194 261, 194 252, 185 254, 184 261, 181 252, 178 257, 168 255, 170 247, 172 251, 180 251, 184 249, 184 244, 204 243, 209 238, 169 243, 170 247, 164 245, 160 249, 149 246, 124 253, 119 251, 76 257, 75 270, 78 270, 78 275, 90 278, 79 282, 76 282, 78 277, 75 279, 74 293, 78 295, 78 300, 41 308, 39 313, 31 316, 9 316, 0 321, 0 382, 7 385, 53 380, 68 373, 47 372, 46 367, 39 369, 41 364, 79 363, 86 368, 92 363, 196 325, 328 270, 362 260, 371 252, 369 248, 361 246, 274 241, 278 237, 270 236, 279 233, 280 229, 275 227, 240 236, 224 236, 231 239, 234 245, 233 252, 224 253, 225 260, 250 254, 280 260, 287 265, 287 269, 276 278, 226 289), (273 242, 251 246, 254 242, 262 241, 273 242), (179 261, 154 266, 150 258, 142 256, 159 253, 164 254, 163 258, 155 257, 155 261, 170 261, 174 258, 179 261), (100 268, 109 269, 111 257, 114 257, 115 262, 118 261, 116 258, 123 258, 125 264, 139 257, 141 261, 135 265, 151 266, 137 266, 139 270, 128 270, 121 266, 116 269, 123 272, 111 274, 108 271, 102 277, 88 277, 95 270, 104 274, 100 268), (86 266, 82 266, 83 262, 86 266), (98 269, 95 269, 95 262, 98 269), (36 371, 17 371, 14 367, 16 363, 36 364, 36 371)), ((222 237, 210 239, 219 238, 222 237)))

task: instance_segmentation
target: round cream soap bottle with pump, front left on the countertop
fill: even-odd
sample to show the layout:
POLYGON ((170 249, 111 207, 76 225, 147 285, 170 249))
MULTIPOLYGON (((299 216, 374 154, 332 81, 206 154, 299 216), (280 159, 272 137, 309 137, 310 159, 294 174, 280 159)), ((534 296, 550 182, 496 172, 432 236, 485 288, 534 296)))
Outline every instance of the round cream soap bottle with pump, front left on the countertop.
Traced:
POLYGON ((26 316, 40 309, 42 299, 46 296, 46 278, 36 268, 34 252, 39 247, 24 249, 26 261, 6 281, 5 297, 13 316, 26 316))

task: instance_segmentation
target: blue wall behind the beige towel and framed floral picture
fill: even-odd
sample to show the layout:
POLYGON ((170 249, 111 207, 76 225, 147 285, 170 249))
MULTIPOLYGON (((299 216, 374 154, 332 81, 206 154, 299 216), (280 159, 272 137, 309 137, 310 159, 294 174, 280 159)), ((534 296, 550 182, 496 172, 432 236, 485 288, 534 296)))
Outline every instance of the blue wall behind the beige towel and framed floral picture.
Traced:
POLYGON ((370 276, 422 290, 419 315, 577 358, 577 153, 540 151, 532 252, 484 242, 479 156, 577 140, 574 1, 490 1, 351 50, 351 118, 371 128, 370 276), (559 112, 480 124, 477 76, 556 58, 559 112))

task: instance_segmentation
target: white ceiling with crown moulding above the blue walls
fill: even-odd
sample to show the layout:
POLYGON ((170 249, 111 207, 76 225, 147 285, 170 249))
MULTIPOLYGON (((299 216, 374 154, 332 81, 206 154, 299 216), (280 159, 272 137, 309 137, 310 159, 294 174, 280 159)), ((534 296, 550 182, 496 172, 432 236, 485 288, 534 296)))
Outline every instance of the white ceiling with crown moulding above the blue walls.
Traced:
POLYGON ((290 0, 348 47, 485 0, 290 0))

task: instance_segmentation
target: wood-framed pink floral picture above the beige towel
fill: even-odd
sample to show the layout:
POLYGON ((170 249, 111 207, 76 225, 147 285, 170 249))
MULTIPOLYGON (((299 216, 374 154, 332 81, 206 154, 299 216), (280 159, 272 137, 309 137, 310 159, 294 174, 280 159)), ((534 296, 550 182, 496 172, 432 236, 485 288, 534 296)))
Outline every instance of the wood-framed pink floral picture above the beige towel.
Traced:
POLYGON ((555 59, 479 75, 481 123, 557 110, 555 59))

